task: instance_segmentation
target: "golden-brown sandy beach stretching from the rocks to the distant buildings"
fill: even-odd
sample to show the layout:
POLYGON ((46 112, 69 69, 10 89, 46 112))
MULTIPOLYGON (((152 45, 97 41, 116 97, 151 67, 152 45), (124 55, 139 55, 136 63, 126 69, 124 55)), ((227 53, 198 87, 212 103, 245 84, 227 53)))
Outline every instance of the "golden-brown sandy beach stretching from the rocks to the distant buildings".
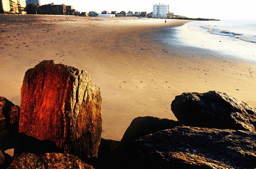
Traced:
POLYGON ((187 20, 0 15, 0 96, 20 105, 29 68, 43 60, 86 70, 102 90, 102 138, 121 140, 138 116, 175 119, 184 92, 225 92, 256 107, 256 65, 161 43, 187 20))

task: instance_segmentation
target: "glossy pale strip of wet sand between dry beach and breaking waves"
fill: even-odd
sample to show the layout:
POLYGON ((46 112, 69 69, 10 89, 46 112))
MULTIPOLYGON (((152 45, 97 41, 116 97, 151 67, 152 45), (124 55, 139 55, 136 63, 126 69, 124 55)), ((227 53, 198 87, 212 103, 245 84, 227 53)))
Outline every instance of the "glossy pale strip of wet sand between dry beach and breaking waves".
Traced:
POLYGON ((204 21, 195 21, 195 24, 184 23, 178 27, 162 28, 157 34, 164 33, 159 36, 163 44, 166 43, 170 46, 186 49, 195 55, 197 55, 195 51, 204 51, 218 58, 255 64, 254 51, 252 51, 253 43, 245 42, 241 39, 231 39, 230 36, 210 34, 198 28, 199 25, 205 24, 206 22, 204 21), (190 27, 187 27, 187 25, 190 27), (195 39, 195 41, 192 39, 195 39))

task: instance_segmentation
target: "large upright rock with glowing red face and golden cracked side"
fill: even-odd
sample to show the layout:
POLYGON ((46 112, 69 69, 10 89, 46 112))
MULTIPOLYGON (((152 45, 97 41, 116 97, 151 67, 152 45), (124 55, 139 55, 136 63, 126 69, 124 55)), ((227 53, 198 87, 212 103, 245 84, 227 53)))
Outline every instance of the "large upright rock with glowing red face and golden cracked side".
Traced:
POLYGON ((101 105, 101 91, 86 71, 43 61, 23 79, 19 132, 79 158, 97 157, 101 105))

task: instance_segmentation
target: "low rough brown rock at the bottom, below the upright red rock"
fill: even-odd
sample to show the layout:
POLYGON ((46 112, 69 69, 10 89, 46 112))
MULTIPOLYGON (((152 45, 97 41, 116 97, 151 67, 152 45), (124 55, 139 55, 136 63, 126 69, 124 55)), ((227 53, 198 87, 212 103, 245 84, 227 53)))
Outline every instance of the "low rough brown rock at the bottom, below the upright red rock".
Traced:
POLYGON ((93 169, 93 167, 70 154, 46 153, 37 156, 23 153, 12 161, 8 169, 93 169))

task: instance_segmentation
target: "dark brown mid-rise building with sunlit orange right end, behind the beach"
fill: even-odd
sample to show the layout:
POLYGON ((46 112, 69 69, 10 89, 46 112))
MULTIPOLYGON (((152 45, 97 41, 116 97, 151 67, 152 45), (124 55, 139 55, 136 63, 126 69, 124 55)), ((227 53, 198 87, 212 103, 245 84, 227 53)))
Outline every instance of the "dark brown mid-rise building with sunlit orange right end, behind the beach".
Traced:
POLYGON ((54 5, 52 4, 47 4, 47 5, 42 5, 38 6, 38 11, 40 14, 53 14, 53 15, 64 15, 67 12, 66 5, 54 5))

